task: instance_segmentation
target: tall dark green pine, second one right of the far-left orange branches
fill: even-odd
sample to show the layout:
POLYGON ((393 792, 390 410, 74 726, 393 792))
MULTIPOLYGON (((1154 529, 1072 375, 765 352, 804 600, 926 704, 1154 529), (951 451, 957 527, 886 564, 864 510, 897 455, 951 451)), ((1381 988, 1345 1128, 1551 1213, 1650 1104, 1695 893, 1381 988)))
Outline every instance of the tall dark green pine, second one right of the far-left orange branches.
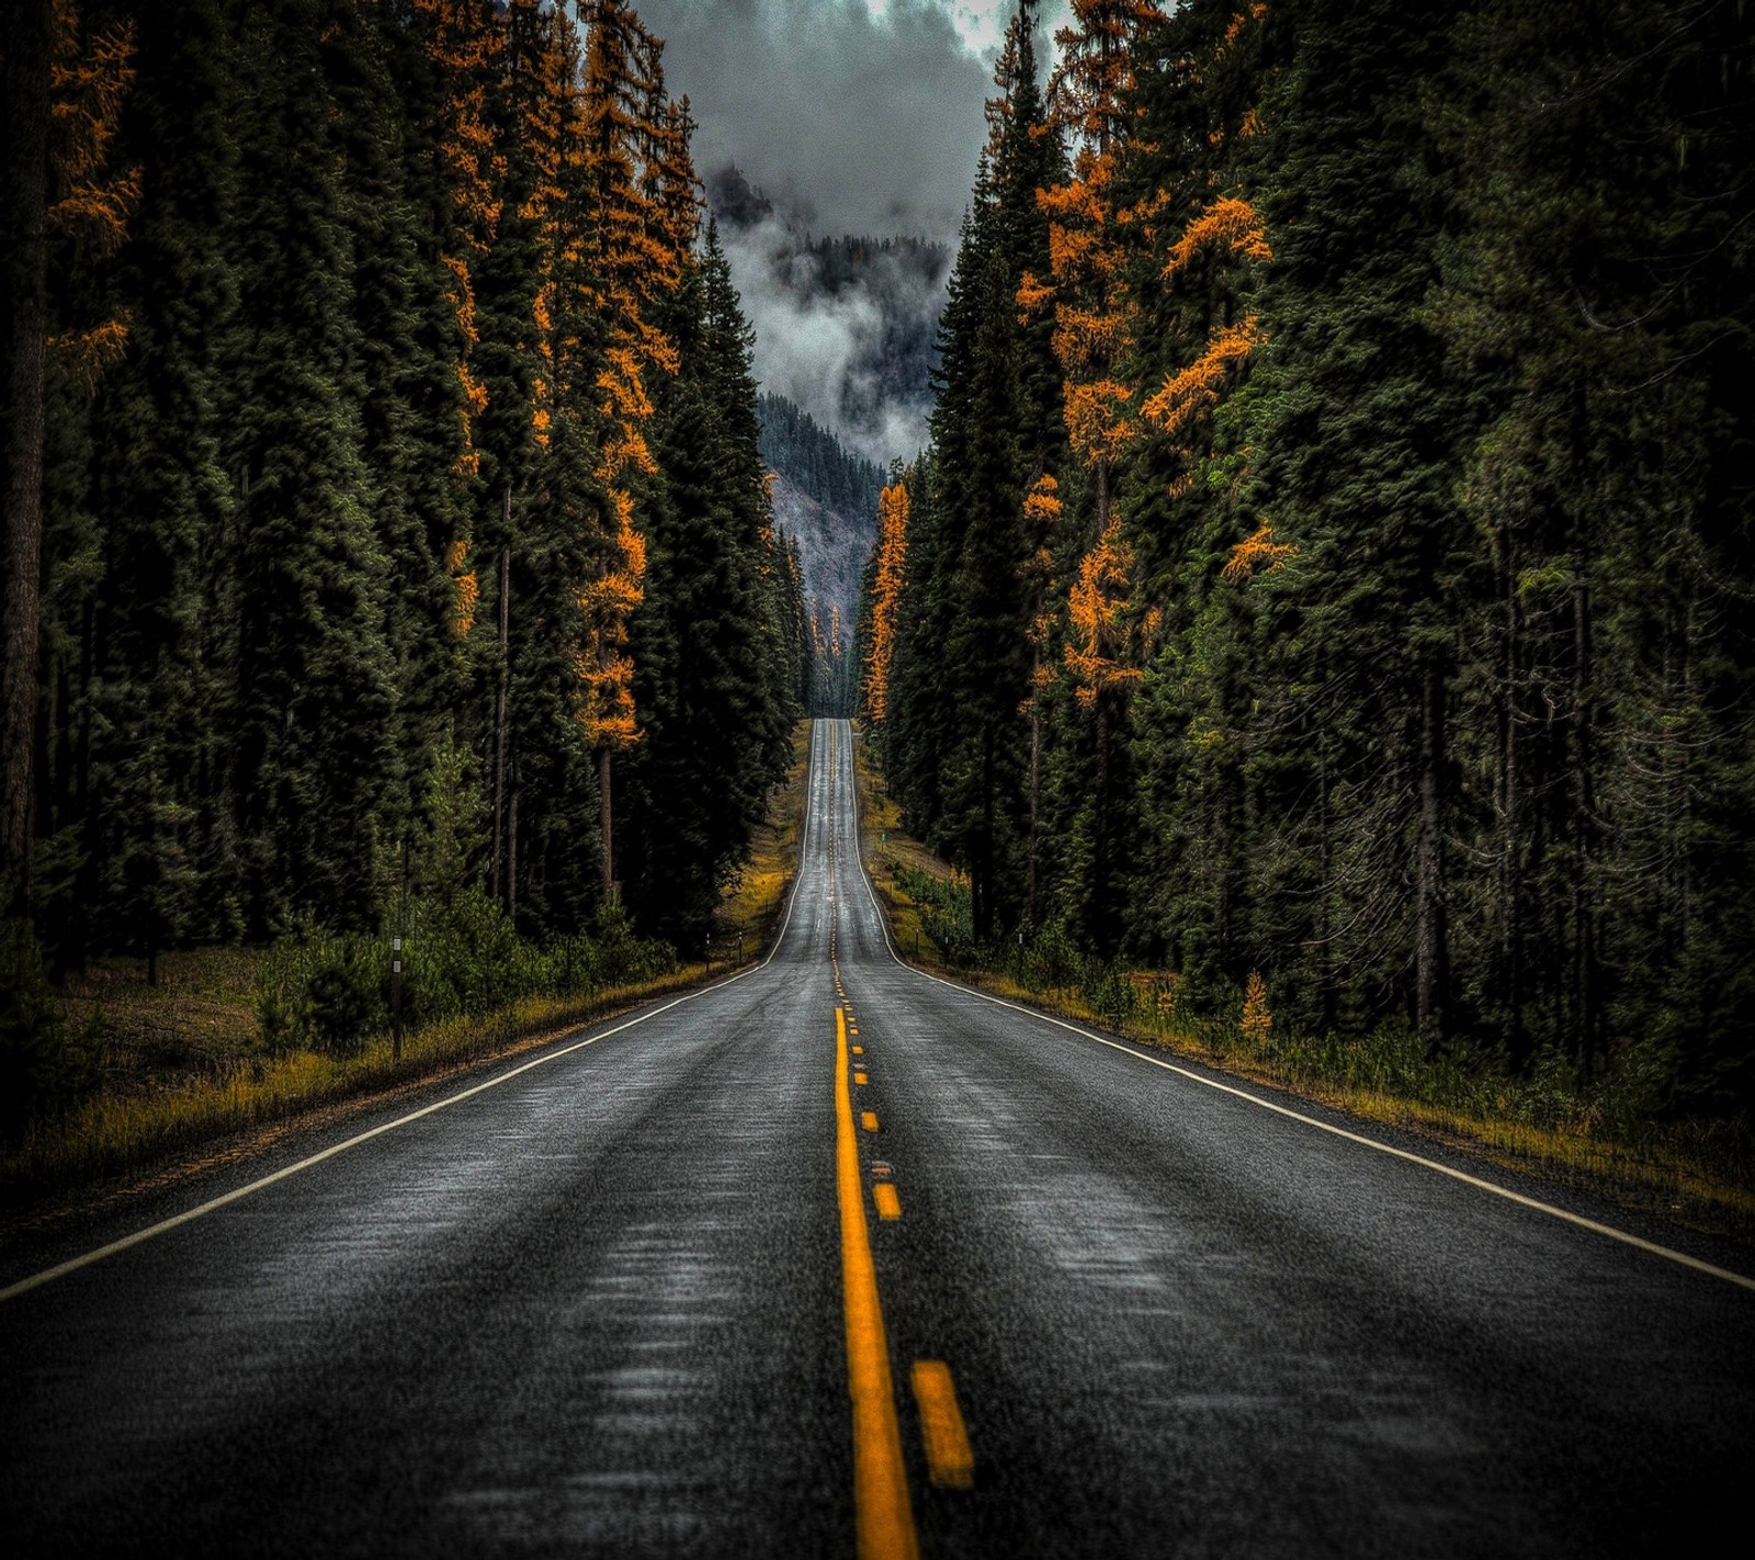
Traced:
POLYGON ((395 698, 337 107, 365 44, 346 0, 251 12, 237 35, 233 881, 256 928, 297 905, 358 923, 376 912, 395 698))

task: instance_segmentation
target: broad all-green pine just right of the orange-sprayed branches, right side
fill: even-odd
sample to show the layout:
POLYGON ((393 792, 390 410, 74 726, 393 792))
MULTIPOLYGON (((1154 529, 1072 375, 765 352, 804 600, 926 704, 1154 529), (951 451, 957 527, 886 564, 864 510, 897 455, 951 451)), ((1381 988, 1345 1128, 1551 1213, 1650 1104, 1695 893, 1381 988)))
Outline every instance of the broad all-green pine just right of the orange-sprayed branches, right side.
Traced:
MULTIPOLYGON (((1336 981, 1402 1005, 1429 1044, 1453 1004, 1444 583, 1464 418, 1427 312, 1448 214, 1420 95, 1444 65, 1448 19, 1327 0, 1283 16, 1295 58, 1258 142, 1279 170, 1262 204, 1272 347, 1243 435, 1260 451, 1255 512, 1300 549, 1257 697, 1271 751, 1316 760, 1288 790, 1325 809, 1325 876, 1281 884, 1279 905, 1323 907, 1327 925, 1302 939, 1329 951, 1336 981)), ((1309 855, 1295 860, 1302 872, 1309 855)))

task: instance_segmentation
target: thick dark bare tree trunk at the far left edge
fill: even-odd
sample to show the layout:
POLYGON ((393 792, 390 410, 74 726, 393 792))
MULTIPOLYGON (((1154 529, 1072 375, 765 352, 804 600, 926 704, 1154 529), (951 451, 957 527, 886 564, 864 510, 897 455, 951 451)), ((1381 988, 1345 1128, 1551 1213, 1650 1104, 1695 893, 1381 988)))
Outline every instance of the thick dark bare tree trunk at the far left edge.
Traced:
POLYGON ((49 0, 19 0, 5 40, 5 674, 0 679, 0 872, 30 902, 37 655, 42 626, 42 383, 47 340, 49 0))

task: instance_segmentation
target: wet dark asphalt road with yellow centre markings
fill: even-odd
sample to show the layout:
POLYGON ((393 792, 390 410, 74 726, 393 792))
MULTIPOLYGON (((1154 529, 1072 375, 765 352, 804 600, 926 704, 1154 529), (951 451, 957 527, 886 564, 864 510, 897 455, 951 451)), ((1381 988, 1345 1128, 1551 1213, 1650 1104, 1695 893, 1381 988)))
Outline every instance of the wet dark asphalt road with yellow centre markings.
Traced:
POLYGON ((853 741, 765 965, 0 1253, 0 1546, 1744 1553, 1746 1253, 906 969, 853 741))

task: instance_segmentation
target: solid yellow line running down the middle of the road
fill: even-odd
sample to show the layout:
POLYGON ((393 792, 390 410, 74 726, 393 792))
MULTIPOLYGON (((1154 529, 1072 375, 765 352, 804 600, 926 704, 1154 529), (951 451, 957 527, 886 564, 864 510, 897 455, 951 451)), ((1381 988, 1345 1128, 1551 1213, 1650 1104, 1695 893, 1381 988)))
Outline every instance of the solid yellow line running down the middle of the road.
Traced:
POLYGON ((835 1009, 835 1193, 841 1202, 841 1286, 848 1313, 848 1397, 853 1399, 853 1518, 860 1560, 918 1560, 914 1509, 902 1467, 890 1344, 865 1227, 860 1149, 848 1090, 848 1020, 835 1009))

